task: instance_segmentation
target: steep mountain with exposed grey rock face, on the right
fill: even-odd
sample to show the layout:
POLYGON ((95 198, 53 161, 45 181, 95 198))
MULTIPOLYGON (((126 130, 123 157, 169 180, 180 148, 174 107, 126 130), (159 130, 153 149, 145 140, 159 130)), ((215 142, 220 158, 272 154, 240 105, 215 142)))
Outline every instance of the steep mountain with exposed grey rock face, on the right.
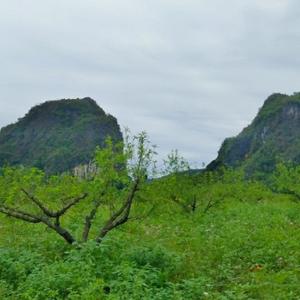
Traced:
POLYGON ((270 172, 277 161, 300 163, 300 93, 271 95, 251 125, 224 141, 207 168, 244 166, 248 173, 270 172))

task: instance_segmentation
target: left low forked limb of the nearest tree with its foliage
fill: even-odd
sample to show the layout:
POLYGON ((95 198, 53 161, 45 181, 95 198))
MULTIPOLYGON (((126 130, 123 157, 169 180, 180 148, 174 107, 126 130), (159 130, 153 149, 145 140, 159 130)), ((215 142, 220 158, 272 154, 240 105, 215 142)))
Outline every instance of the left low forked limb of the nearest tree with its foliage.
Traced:
POLYGON ((5 168, 0 177, 0 212, 33 224, 44 224, 75 242, 61 225, 61 219, 80 201, 87 198, 82 184, 70 175, 47 178, 38 169, 5 168))

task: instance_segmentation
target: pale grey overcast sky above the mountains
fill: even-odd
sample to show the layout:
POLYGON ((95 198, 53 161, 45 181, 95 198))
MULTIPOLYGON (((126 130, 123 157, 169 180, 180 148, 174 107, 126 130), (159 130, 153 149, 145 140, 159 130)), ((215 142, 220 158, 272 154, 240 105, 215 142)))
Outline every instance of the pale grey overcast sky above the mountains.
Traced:
POLYGON ((299 0, 2 0, 0 126, 90 96, 208 163, 268 95, 300 91, 299 16, 299 0))

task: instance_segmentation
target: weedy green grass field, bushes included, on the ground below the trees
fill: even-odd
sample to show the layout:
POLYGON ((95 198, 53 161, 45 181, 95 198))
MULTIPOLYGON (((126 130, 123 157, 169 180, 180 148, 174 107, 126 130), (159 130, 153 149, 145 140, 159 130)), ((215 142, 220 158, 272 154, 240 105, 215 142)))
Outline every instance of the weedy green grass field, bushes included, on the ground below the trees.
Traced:
POLYGON ((2 218, 1 298, 300 299, 300 206, 268 197, 206 214, 166 202, 80 250, 2 218))

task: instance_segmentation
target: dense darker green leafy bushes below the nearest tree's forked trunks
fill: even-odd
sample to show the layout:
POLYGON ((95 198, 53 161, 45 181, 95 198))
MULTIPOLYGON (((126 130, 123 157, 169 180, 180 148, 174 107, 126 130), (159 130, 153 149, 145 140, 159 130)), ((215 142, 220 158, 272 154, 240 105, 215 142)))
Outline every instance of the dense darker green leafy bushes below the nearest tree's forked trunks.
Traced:
POLYGON ((88 243, 51 263, 34 252, 2 251, 0 291, 18 299, 152 299, 172 292, 173 256, 140 248, 118 257, 112 247, 88 243))

